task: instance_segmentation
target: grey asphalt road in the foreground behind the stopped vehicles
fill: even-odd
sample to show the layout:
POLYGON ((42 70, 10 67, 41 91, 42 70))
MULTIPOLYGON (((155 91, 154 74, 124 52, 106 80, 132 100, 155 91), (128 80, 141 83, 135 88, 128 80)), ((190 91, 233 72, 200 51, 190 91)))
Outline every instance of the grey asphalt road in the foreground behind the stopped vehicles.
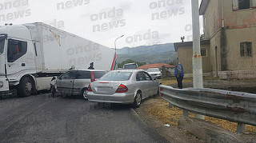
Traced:
POLYGON ((168 142, 129 105, 98 105, 78 97, 0 100, 0 142, 168 142))

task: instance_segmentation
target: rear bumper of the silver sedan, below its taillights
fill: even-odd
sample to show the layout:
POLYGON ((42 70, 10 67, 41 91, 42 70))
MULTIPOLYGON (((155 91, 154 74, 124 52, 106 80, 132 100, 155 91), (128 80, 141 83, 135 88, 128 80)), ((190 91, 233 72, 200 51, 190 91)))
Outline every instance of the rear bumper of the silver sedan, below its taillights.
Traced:
POLYGON ((104 103, 120 103, 131 104, 134 103, 134 94, 130 93, 114 93, 109 94, 97 94, 93 92, 87 93, 88 101, 104 102, 104 103))

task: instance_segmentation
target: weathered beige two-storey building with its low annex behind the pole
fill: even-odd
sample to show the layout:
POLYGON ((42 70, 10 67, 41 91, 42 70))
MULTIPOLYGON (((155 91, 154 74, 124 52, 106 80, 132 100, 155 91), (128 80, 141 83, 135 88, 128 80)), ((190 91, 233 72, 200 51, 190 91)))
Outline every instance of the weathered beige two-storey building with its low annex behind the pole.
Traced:
MULTIPOLYGON (((202 0, 199 13, 203 16, 204 39, 209 41, 201 46, 209 48, 207 60, 202 60, 203 72, 221 79, 256 77, 256 0, 202 0)), ((183 65, 192 65, 192 59, 184 59, 189 55, 183 50, 192 51, 192 45, 174 46, 178 60, 190 62, 183 65)), ((192 73, 191 67, 186 68, 192 73)))

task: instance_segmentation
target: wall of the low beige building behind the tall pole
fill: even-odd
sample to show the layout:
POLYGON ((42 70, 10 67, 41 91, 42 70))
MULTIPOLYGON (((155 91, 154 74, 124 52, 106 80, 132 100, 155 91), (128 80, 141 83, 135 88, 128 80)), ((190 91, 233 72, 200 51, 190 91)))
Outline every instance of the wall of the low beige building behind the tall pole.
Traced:
MULTIPOLYGON (((202 45, 201 48, 206 48, 206 57, 202 57, 202 72, 210 73, 210 46, 202 45)), ((178 47, 178 61, 182 63, 185 74, 192 74, 192 57, 193 57, 193 47, 184 46, 178 47)))

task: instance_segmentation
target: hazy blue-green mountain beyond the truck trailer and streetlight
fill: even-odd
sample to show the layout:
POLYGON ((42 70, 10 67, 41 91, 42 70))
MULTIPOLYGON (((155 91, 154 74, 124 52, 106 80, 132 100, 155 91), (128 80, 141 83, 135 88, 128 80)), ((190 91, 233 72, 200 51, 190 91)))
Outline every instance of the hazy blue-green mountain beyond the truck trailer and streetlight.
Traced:
POLYGON ((146 63, 168 63, 177 59, 173 43, 138 46, 134 48, 124 47, 117 50, 118 63, 132 59, 136 62, 146 63))

